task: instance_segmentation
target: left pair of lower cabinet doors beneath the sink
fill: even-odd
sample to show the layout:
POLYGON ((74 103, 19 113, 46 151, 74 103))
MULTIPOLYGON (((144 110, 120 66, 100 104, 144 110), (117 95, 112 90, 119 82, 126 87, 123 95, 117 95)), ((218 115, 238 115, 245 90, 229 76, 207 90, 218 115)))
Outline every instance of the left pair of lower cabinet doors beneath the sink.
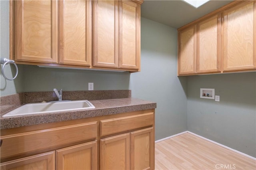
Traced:
POLYGON ((1 170, 96 170, 97 141, 11 160, 0 167, 1 170))

